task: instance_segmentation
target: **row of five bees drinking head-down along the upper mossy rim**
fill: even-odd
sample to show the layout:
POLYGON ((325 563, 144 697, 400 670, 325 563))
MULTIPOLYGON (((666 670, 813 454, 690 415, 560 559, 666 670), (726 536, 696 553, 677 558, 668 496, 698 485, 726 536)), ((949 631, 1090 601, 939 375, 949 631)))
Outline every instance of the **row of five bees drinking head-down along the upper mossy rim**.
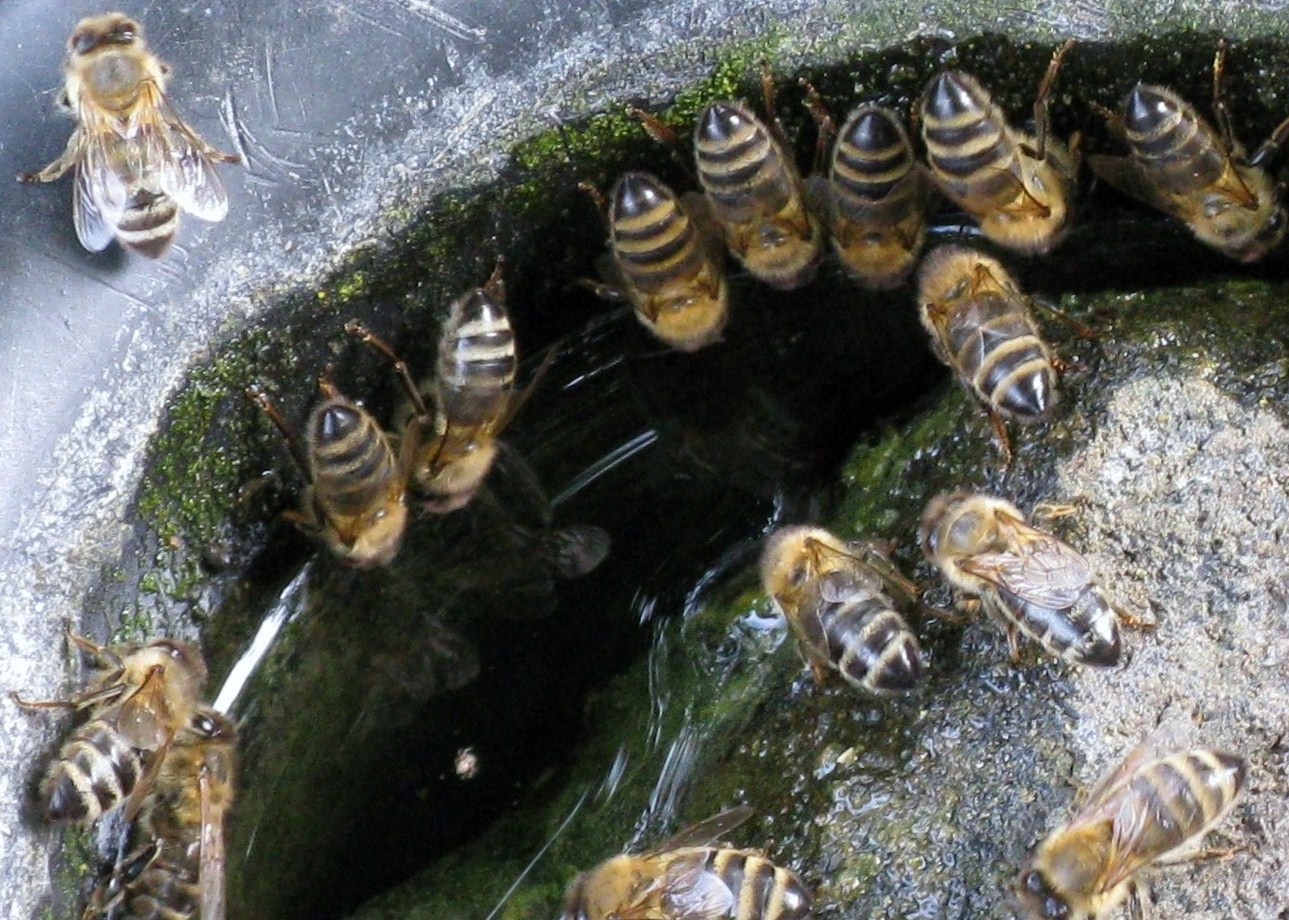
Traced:
MULTIPOLYGON (((826 171, 806 180, 773 117, 766 75, 768 121, 732 101, 699 115, 693 158, 701 195, 677 196, 647 173, 617 180, 601 202, 610 258, 601 264, 606 283, 594 289, 628 300, 663 341, 695 350, 717 341, 728 320, 726 249, 754 278, 793 289, 815 277, 826 229, 856 281, 897 287, 918 262, 938 191, 994 244, 1026 255, 1051 251, 1070 229, 1081 158, 1076 139, 1066 144, 1051 135, 1048 117, 1072 44, 1057 49, 1043 76, 1034 134, 1012 125, 973 76, 944 71, 916 112, 926 164, 896 112, 864 103, 837 131, 826 171)), ((1266 165, 1289 138, 1289 120, 1246 155, 1221 94, 1225 59, 1223 44, 1213 64, 1219 130, 1170 89, 1138 84, 1120 112, 1106 112, 1129 155, 1088 162, 1098 178, 1183 222, 1201 242, 1254 262, 1285 233, 1284 205, 1266 165)), ((822 151, 833 122, 812 89, 808 104, 822 151)), ((646 130, 679 146, 665 124, 634 111, 646 130)))

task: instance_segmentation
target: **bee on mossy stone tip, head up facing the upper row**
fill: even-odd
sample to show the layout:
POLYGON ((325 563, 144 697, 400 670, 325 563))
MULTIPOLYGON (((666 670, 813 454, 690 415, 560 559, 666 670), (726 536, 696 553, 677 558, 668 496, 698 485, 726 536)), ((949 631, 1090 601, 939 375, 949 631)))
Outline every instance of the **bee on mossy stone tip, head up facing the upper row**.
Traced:
POLYGON ((918 302, 936 354, 989 410, 1005 468, 1012 448, 1003 417, 1036 421, 1058 399, 1056 359, 1029 298, 996 259, 940 246, 918 271, 918 302))

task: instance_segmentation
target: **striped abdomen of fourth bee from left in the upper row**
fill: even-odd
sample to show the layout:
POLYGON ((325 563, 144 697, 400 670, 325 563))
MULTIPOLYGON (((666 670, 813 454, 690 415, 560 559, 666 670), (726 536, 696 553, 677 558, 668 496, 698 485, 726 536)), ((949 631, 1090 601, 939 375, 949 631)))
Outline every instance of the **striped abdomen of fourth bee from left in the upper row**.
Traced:
POLYGON ((923 101, 922 134, 927 162, 941 179, 972 184, 973 197, 1011 195, 1009 129, 973 77, 946 71, 932 81, 923 101))

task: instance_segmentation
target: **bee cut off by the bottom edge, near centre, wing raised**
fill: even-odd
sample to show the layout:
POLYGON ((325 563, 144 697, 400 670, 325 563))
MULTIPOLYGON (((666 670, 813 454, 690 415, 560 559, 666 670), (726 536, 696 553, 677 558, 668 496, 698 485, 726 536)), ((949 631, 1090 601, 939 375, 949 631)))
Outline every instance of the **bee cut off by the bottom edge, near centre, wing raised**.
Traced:
POLYGON ((565 894, 561 920, 800 920, 811 897, 800 880, 755 850, 713 845, 750 817, 722 812, 639 856, 621 854, 583 872, 565 894))

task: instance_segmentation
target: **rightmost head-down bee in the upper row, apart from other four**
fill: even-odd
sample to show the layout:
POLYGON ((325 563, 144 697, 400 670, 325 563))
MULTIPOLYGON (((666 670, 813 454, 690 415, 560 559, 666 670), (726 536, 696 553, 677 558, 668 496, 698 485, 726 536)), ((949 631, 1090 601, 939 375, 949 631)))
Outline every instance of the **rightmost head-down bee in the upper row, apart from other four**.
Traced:
POLYGON ((1137 84, 1110 128, 1130 155, 1088 165, 1120 192, 1185 223, 1195 238, 1237 262, 1257 262, 1285 235, 1285 209, 1266 165, 1289 138, 1289 119, 1250 157, 1222 98, 1226 45, 1213 61, 1213 110, 1221 133, 1164 86, 1137 84))

